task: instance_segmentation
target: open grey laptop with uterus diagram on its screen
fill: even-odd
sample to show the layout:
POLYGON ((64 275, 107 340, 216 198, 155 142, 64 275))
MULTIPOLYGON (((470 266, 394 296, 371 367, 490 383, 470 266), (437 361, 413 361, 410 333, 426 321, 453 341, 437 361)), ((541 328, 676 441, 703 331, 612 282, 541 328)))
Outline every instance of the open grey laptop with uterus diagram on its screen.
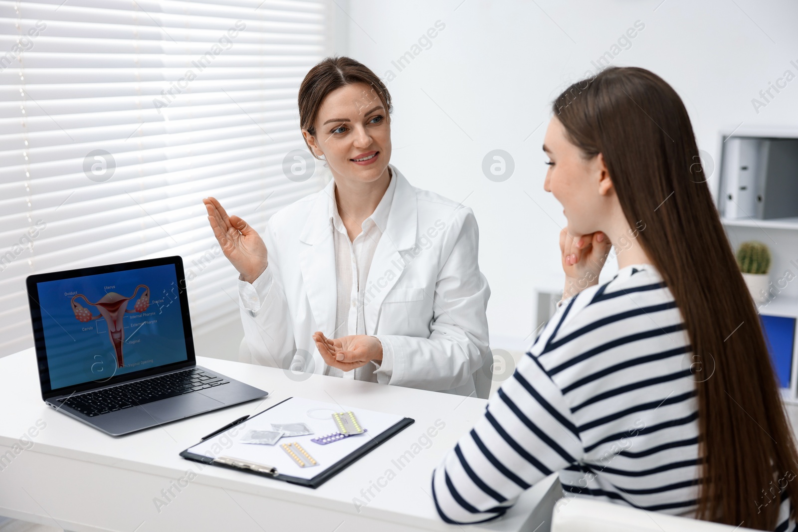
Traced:
POLYGON ((123 435, 268 395, 196 365, 183 260, 27 278, 41 398, 123 435))

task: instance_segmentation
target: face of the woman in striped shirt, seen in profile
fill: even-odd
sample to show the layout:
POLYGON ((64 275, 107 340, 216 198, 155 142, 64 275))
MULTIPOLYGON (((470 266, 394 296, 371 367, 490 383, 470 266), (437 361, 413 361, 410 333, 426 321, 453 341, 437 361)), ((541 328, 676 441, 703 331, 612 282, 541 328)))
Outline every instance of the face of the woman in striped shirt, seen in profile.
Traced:
POLYGON ((551 118, 546 130, 543 152, 549 156, 543 188, 563 205, 568 233, 606 231, 606 221, 616 206, 602 154, 586 156, 568 140, 556 116, 551 118))

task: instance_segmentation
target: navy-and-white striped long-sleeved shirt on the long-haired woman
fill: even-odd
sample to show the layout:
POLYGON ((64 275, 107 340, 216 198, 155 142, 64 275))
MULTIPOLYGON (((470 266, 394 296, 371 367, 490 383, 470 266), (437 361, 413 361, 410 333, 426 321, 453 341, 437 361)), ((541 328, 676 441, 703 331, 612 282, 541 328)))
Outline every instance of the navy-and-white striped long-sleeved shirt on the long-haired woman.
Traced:
MULTIPOLYGON (((434 471, 440 517, 496 518, 555 472, 566 497, 693 517, 700 370, 654 266, 626 266, 583 290, 560 306, 434 471)), ((776 530, 793 530, 784 493, 772 501, 780 503, 776 530)))

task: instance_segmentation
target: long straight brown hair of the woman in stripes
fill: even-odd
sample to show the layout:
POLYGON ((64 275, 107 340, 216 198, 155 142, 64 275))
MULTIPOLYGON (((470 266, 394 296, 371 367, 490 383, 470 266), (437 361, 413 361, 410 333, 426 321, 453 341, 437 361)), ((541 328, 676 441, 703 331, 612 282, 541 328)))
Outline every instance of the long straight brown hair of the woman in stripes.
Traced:
MULTIPOLYGON (((684 104, 656 74, 613 67, 571 85, 552 107, 586 157, 602 153, 630 225, 645 220, 638 241, 681 310, 693 360, 712 373, 696 383, 697 518, 773 530, 779 490, 769 504, 760 493, 792 472, 796 445, 684 104)), ((788 496, 796 518, 798 489, 788 496)))

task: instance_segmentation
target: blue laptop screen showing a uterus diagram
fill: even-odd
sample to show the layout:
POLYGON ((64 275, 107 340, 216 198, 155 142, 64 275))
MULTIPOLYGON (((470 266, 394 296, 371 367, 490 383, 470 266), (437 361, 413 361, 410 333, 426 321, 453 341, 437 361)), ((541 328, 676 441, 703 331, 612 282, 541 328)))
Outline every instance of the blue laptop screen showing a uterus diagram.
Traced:
POLYGON ((188 360, 174 264, 36 286, 50 389, 188 360))

